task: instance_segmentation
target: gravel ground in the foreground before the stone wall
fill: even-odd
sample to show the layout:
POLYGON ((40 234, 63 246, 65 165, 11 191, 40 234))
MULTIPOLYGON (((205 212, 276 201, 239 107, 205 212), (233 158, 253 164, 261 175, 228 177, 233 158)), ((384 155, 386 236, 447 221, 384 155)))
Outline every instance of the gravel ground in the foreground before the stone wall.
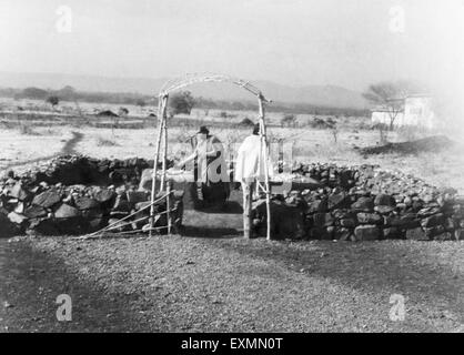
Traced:
POLYGON ((462 242, 3 240, 0 331, 463 332, 463 256, 462 242), (63 293, 71 322, 56 320, 63 293))

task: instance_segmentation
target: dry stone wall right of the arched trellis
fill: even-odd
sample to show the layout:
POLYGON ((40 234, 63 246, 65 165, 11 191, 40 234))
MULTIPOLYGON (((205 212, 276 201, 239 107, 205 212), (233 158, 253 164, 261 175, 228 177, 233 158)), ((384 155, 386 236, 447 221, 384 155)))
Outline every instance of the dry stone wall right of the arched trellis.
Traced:
MULTIPOLYGON (((306 240, 463 240, 464 196, 379 166, 297 164, 323 187, 272 197, 272 234, 306 240)), ((265 200, 253 206, 254 232, 265 233, 265 200)))

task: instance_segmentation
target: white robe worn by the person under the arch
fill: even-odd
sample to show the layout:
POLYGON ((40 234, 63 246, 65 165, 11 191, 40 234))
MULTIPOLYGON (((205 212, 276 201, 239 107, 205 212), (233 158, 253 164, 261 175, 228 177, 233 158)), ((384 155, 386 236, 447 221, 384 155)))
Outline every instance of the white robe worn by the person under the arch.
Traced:
MULTIPOLYGON (((259 180, 264 181, 265 178, 265 165, 264 165, 264 154, 260 154, 260 136, 250 135, 245 138, 242 145, 239 148, 234 179, 238 182, 259 180), (261 159, 260 159, 261 155, 261 159)), ((263 145, 264 153, 265 146, 263 145)), ((272 176, 272 164, 271 160, 268 158, 269 162, 269 176, 272 176)))

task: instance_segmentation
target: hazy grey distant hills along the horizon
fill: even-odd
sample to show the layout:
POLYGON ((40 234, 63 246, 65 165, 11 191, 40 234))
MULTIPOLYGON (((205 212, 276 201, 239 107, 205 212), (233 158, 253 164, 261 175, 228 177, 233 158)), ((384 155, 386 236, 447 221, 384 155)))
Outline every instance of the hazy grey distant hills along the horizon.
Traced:
MULTIPOLYGON (((0 72, 0 88, 38 87, 61 89, 71 85, 79 91, 139 92, 157 95, 167 78, 107 78, 49 73, 0 72)), ((289 87, 271 81, 252 81, 271 100, 317 106, 365 109, 367 103, 360 92, 335 85, 289 87)), ((213 100, 253 100, 249 92, 223 83, 199 83, 189 88, 195 97, 213 100)))

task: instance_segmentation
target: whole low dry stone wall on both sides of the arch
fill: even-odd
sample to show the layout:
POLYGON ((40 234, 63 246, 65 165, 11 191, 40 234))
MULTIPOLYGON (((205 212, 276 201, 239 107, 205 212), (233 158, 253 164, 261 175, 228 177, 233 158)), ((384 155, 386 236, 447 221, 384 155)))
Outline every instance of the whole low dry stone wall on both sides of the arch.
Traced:
MULTIPOLYGON (((169 163, 171 165, 171 162, 169 163)), ((67 155, 20 176, 0 180, 0 236, 16 234, 77 235, 94 232, 150 204, 150 191, 140 190, 142 172, 153 161, 97 160, 67 155)), ((400 172, 379 166, 296 164, 293 190, 272 196, 275 239, 376 241, 463 240, 464 196, 437 189, 400 172), (320 182, 310 189, 299 181, 320 182)), ((174 232, 182 224, 183 191, 173 193, 174 232)), ((155 226, 165 233, 165 201, 155 205, 155 226)), ((142 229, 143 210, 117 229, 142 229)), ((265 234, 265 200, 253 204, 253 229, 265 234)))

